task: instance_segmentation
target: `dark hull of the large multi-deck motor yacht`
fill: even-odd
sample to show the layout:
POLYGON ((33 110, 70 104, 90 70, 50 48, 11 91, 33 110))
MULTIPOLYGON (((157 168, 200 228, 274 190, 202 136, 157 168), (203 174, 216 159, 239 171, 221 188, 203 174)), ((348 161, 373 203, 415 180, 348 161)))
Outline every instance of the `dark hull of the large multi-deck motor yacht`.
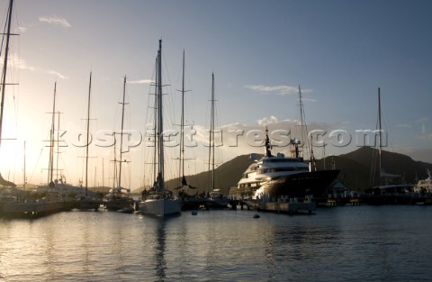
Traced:
POLYGON ((263 195, 269 197, 304 197, 306 195, 323 196, 330 184, 338 177, 339 170, 319 170, 296 173, 277 177, 263 186, 263 195))

